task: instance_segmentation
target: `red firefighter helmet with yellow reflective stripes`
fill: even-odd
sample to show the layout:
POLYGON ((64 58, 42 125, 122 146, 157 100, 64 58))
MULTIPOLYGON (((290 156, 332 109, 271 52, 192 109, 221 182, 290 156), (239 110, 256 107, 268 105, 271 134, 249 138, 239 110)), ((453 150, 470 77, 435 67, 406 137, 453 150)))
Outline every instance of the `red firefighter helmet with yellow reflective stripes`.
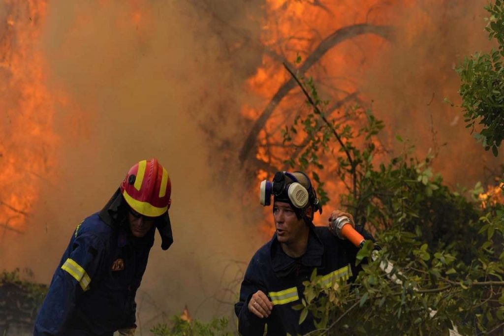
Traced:
POLYGON ((170 177, 157 159, 143 160, 131 167, 120 189, 128 205, 144 216, 158 217, 170 208, 170 177))

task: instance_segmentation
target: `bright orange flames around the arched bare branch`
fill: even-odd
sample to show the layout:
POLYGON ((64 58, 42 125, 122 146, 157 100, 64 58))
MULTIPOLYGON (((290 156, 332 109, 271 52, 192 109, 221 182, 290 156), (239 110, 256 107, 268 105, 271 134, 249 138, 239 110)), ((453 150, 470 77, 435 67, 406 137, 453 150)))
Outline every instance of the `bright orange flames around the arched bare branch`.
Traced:
MULTIPOLYGON (((258 184, 268 175, 271 178, 275 170, 289 168, 284 163, 289 154, 282 146, 281 129, 285 124, 292 124, 295 115, 305 108, 304 97, 292 83, 282 62, 286 62, 290 69, 297 69, 299 75, 316 78, 324 98, 331 99, 333 103, 341 102, 333 110, 325 112, 331 118, 341 116, 345 106, 355 104, 360 98, 356 81, 352 78, 368 66, 365 60, 355 55, 361 55, 362 48, 366 50, 366 57, 372 59, 388 37, 382 30, 383 25, 392 22, 394 10, 397 12, 398 7, 409 3, 368 0, 357 5, 354 1, 267 1, 261 36, 266 51, 262 65, 246 83, 248 91, 262 97, 264 103, 262 106, 243 106, 241 111, 244 118, 254 122, 249 140, 250 143, 255 141, 258 146, 254 147, 255 153, 249 155, 247 149, 253 146, 245 143, 240 159, 244 161, 247 156, 253 157, 260 166, 271 167, 268 172, 259 170, 258 184), (298 57, 300 62, 294 63, 298 57)), ((294 135, 293 142, 302 144, 304 137, 298 133, 294 135)), ((331 164, 335 162, 334 157, 328 156, 324 162, 327 162, 326 171, 334 171, 335 165, 331 164)), ((337 202, 338 192, 345 187, 328 175, 321 178, 326 181, 333 202, 337 202)), ((269 208, 264 210, 265 218, 271 218, 270 211, 269 208)), ((316 217, 316 221, 319 222, 316 224, 327 225, 320 217, 316 217)), ((273 230, 268 221, 263 231, 271 234, 273 230)))

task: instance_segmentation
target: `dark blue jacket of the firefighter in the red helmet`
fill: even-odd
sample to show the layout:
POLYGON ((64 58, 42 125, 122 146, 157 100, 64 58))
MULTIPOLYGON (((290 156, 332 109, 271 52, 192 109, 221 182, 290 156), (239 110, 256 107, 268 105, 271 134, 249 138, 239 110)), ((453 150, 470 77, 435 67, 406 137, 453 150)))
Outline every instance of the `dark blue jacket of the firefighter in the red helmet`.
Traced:
MULTIPOLYGON (((117 212, 123 200, 114 196, 117 212)), ((77 226, 37 316, 35 336, 111 336, 135 326, 135 295, 155 228, 134 239, 128 222, 115 215, 104 208, 77 226)))

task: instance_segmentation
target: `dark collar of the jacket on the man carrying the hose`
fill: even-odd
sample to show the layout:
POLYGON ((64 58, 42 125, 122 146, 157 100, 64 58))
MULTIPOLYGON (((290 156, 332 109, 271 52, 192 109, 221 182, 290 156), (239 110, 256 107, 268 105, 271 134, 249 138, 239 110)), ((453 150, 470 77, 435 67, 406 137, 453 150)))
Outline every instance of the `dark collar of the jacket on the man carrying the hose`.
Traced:
POLYGON ((324 244, 314 230, 314 225, 309 224, 308 243, 306 252, 299 258, 294 259, 288 256, 282 249, 277 240, 277 234, 273 235, 271 240, 270 256, 273 272, 278 277, 289 275, 295 268, 295 264, 300 263, 306 267, 319 267, 322 265, 322 256, 324 254, 324 244))

